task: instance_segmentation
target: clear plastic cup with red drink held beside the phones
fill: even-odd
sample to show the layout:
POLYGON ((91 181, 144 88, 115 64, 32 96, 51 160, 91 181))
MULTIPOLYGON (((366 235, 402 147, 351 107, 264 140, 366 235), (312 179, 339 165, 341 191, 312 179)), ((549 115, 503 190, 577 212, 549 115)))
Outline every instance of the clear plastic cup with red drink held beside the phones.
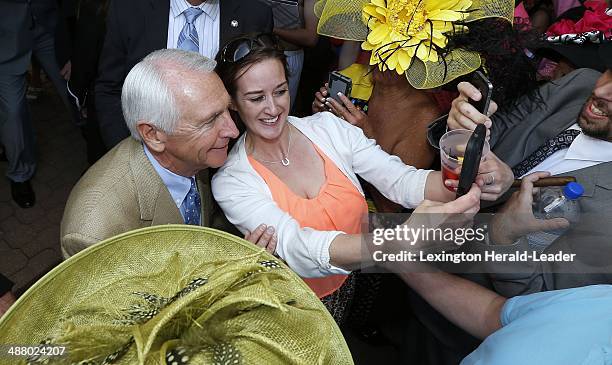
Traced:
MULTIPOLYGON (((442 165, 442 183, 444 181, 459 180, 461 174, 461 164, 465 154, 465 147, 472 136, 472 131, 467 129, 455 129, 446 132, 440 138, 440 163, 442 165)), ((485 141, 482 147, 482 162, 490 151, 489 142, 485 141)), ((454 188, 446 186, 450 191, 455 191, 454 188)))

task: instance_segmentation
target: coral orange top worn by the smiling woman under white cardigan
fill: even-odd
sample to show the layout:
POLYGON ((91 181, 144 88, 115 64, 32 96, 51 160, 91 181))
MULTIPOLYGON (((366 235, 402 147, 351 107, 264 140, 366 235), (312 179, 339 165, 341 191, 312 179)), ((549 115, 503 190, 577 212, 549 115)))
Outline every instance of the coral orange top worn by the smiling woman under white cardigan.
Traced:
MULTIPOLYGON (((317 146, 313 146, 324 161, 325 182, 319 194, 312 199, 296 195, 253 157, 249 156, 249 162, 270 188, 272 198, 279 208, 289 213, 302 228, 342 231, 347 234, 361 233, 362 222, 368 213, 365 198, 334 162, 317 146)), ((346 275, 332 275, 324 278, 305 278, 304 281, 319 298, 323 298, 340 288, 346 278, 346 275)))

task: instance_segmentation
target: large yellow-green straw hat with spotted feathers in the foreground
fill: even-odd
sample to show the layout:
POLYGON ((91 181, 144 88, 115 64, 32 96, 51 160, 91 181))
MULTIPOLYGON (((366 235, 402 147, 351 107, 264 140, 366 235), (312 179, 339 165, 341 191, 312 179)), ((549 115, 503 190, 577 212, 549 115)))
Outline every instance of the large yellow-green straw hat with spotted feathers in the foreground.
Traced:
POLYGON ((8 344, 65 352, 2 354, 0 364, 353 363, 330 314, 284 263, 185 225, 128 232, 60 264, 0 320, 8 344))

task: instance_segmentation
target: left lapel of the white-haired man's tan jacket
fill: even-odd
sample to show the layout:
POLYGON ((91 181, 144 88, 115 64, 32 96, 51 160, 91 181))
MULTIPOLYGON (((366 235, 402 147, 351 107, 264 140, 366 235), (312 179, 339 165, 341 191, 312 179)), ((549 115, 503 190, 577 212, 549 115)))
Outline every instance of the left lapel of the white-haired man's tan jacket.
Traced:
POLYGON ((130 168, 136 185, 140 219, 152 225, 183 223, 181 212, 144 153, 142 144, 131 140, 130 168))

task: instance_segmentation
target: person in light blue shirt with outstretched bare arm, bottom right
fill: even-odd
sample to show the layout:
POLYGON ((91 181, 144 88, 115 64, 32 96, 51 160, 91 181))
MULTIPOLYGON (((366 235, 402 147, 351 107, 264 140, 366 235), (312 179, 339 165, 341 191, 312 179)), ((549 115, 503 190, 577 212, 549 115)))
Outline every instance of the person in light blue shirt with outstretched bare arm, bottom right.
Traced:
POLYGON ((446 273, 401 276, 451 322, 484 339, 461 365, 612 364, 612 285, 506 299, 446 273))

